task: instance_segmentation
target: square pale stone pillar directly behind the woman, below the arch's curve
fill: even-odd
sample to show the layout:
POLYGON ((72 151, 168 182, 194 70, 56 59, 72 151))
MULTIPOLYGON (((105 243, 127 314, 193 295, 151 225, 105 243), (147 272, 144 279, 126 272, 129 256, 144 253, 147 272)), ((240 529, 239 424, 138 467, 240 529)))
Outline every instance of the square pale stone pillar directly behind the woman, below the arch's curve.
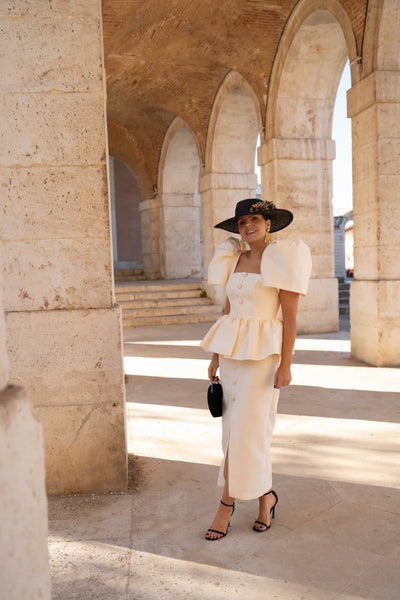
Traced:
POLYGON ((299 333, 339 327, 331 204, 334 158, 331 139, 271 138, 258 149, 263 199, 294 214, 289 228, 273 237, 302 239, 311 249, 313 270, 308 295, 299 305, 299 333))

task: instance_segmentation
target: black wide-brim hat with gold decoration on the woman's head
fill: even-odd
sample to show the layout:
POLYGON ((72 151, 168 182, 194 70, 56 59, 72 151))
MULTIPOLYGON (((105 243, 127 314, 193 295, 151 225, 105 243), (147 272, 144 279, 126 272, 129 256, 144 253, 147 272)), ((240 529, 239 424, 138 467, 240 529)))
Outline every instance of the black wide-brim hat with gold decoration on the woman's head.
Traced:
POLYGON ((234 217, 221 221, 221 223, 214 225, 214 227, 225 229, 225 231, 230 231, 231 233, 239 233, 238 219, 250 214, 259 214, 265 219, 270 219, 270 233, 284 229, 293 221, 293 213, 290 210, 276 208, 273 202, 268 202, 267 200, 246 198, 246 200, 240 200, 236 204, 234 217))

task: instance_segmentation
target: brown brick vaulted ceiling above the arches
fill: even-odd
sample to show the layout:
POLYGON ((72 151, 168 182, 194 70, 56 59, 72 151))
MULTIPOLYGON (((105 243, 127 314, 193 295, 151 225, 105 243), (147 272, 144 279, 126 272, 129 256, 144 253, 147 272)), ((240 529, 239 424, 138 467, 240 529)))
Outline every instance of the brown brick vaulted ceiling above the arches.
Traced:
MULTIPOLYGON (((329 2, 334 0, 320 4, 329 2)), ((124 138, 133 160, 154 180, 165 131, 178 115, 197 136, 204 157, 213 100, 232 69, 252 86, 264 113, 274 56, 296 4, 103 0, 111 149, 124 138)), ((341 4, 360 45, 366 0, 341 4)))

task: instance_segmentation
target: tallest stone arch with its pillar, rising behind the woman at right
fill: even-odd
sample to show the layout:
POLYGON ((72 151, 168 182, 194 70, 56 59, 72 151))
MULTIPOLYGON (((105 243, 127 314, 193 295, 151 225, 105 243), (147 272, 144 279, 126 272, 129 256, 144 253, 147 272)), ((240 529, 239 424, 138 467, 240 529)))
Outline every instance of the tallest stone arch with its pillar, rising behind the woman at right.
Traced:
POLYGON ((346 60, 359 77, 354 33, 335 0, 300 2, 288 20, 275 57, 268 95, 265 142, 259 150, 263 197, 292 210, 290 235, 313 255, 310 293, 299 331, 336 331, 332 118, 346 60))

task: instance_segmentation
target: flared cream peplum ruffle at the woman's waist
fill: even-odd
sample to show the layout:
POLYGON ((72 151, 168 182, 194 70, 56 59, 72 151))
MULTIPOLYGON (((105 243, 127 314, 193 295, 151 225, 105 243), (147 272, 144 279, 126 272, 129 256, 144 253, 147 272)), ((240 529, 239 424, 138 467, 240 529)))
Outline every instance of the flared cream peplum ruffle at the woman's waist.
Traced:
POLYGON ((239 315, 223 315, 201 342, 207 352, 216 352, 236 360, 262 360, 280 354, 282 322, 239 315))

